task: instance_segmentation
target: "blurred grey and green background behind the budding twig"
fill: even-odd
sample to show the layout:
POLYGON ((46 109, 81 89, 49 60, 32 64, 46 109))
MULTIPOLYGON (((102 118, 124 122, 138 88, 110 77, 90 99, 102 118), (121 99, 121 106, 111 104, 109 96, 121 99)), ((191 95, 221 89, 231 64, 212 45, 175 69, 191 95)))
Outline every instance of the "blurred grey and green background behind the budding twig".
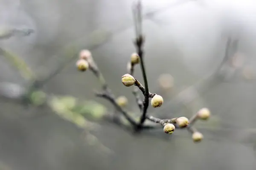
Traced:
MULTIPOLYGON (((169 119, 209 108, 198 144, 187 130, 134 135, 105 121, 113 106, 95 97, 90 71, 77 71, 79 50, 91 50, 113 93, 139 112, 121 83, 136 50, 132 3, 0 0, 3 170, 256 169, 256 2, 142 0, 149 90, 164 98, 148 111, 169 119), (168 92, 162 74, 172 75, 168 92)), ((139 66, 135 77, 143 82, 139 66)))

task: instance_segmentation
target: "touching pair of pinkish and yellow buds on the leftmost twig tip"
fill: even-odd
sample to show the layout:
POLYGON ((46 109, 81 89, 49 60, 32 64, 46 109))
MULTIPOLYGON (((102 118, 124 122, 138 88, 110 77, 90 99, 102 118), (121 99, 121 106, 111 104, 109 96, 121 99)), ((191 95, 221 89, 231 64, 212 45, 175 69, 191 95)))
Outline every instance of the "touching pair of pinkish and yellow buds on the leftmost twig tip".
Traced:
POLYGON ((79 53, 79 60, 76 62, 76 68, 79 71, 86 71, 89 68, 88 60, 92 57, 92 54, 89 50, 82 50, 79 53))

